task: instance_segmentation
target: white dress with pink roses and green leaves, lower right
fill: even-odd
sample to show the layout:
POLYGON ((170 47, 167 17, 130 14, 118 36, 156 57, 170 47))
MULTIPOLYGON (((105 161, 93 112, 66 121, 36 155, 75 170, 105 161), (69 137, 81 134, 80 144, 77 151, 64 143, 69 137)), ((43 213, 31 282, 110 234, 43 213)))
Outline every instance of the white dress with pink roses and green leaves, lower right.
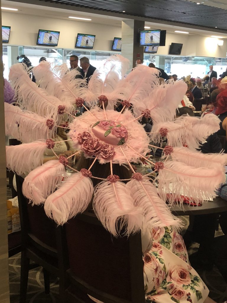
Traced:
POLYGON ((143 253, 145 302, 204 302, 209 290, 189 265, 181 235, 171 227, 151 233, 152 248, 143 253))

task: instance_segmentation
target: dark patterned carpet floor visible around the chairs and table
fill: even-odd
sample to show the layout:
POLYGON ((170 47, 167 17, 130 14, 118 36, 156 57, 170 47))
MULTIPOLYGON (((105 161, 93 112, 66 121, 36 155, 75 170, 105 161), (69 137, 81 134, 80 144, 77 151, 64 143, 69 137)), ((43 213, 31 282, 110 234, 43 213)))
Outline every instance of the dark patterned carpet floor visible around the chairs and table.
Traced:
MULTIPOLYGON (((11 191, 7 188, 7 197, 11 198, 11 191)), ((182 217, 184 225, 188 226, 187 216, 182 217)), ((184 230, 182 231, 184 233, 184 230)), ((218 231, 216 236, 222 232, 218 231)), ((189 255, 196 252, 198 244, 194 243, 189 249, 189 255)), ((198 271, 203 281, 210 290, 209 296, 217 303, 227 300, 227 284, 217 268, 212 271, 198 271)), ((20 287, 20 254, 9 258, 9 281, 10 281, 10 302, 19 302, 20 287)), ((26 303, 58 303, 58 278, 50 277, 50 295, 44 293, 44 279, 42 268, 38 267, 29 271, 28 292, 26 303)), ((76 303, 76 302, 75 302, 76 303)))

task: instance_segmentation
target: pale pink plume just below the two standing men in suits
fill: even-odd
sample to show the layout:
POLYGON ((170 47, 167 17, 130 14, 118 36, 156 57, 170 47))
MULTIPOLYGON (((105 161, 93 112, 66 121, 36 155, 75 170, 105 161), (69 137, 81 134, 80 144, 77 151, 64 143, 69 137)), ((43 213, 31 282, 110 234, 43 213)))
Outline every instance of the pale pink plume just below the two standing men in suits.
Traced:
POLYGON ((33 68, 33 73, 41 88, 71 105, 80 97, 83 86, 87 85, 84 79, 75 78, 80 74, 77 70, 68 71, 65 65, 52 68, 49 62, 41 62, 33 68))

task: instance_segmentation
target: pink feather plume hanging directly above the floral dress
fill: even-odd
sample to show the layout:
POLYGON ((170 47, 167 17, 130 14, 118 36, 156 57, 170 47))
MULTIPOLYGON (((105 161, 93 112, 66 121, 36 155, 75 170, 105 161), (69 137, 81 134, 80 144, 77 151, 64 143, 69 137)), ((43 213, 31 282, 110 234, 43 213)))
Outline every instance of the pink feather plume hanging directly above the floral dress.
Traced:
POLYGON ((150 178, 144 177, 141 181, 132 179, 127 182, 126 190, 130 192, 135 205, 143 210, 143 228, 180 227, 181 221, 171 214, 166 202, 159 198, 150 178))

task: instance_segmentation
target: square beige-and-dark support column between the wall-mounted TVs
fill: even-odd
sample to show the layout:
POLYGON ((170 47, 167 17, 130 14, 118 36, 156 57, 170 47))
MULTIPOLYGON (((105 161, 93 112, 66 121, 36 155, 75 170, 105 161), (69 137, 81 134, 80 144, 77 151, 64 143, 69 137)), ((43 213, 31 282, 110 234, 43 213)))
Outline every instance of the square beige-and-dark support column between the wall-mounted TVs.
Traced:
POLYGON ((130 61, 130 71, 136 66, 138 58, 143 62, 143 46, 140 46, 140 31, 144 21, 126 20, 121 24, 121 55, 130 61))

